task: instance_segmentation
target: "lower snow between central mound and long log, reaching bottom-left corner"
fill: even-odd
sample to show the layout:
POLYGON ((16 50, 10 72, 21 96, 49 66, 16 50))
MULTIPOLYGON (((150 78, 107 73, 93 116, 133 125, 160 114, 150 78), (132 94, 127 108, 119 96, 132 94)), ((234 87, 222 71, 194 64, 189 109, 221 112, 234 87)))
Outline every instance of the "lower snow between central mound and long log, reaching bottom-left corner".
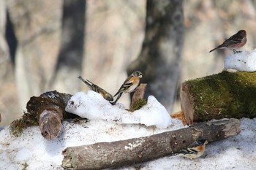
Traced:
POLYGON ((6 127, 0 131, 0 169, 61 170, 64 158, 61 152, 67 147, 149 136, 186 127, 181 120, 172 119, 172 123, 167 128, 154 128, 105 120, 80 120, 77 123, 65 120, 61 135, 53 141, 42 137, 39 126, 26 128, 19 137, 12 136, 6 127))

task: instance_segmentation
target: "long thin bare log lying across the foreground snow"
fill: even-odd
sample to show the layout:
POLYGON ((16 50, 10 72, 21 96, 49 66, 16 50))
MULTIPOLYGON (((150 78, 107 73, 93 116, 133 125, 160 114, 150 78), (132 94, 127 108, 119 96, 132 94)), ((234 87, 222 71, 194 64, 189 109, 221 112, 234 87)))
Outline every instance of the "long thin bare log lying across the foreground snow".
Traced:
POLYGON ((239 132, 239 120, 218 120, 152 136, 67 147, 62 152, 64 155, 62 167, 64 169, 117 168, 173 155, 195 142, 200 136, 206 138, 208 142, 215 142, 235 136, 239 132))

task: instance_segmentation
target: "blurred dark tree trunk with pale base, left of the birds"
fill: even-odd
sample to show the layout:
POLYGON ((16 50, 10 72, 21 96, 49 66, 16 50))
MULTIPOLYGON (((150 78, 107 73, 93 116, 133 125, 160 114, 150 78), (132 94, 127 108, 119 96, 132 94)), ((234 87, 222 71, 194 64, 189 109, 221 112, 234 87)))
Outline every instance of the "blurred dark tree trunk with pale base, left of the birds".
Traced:
POLYGON ((64 0, 61 50, 55 74, 50 81, 54 89, 75 93, 80 88, 77 77, 82 72, 85 16, 86 1, 64 0))

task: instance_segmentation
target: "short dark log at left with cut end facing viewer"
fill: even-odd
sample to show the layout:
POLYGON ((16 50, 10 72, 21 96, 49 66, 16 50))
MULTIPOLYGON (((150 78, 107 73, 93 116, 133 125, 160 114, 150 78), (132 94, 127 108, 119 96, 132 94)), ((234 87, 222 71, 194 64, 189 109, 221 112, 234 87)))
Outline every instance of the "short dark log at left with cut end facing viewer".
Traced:
MULTIPOLYGON (((67 117, 65 107, 72 95, 50 91, 42 93, 39 97, 31 97, 26 109, 37 116, 40 131, 45 139, 53 140, 59 136, 64 117, 67 117)), ((72 116, 69 114, 70 117, 72 116)))

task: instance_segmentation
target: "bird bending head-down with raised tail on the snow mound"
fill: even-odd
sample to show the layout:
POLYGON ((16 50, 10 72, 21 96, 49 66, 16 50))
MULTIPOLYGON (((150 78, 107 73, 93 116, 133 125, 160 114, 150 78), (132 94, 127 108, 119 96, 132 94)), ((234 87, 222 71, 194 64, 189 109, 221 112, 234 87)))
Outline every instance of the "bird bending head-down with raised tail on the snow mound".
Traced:
POLYGON ((102 89, 102 88, 99 88, 99 86, 95 85, 94 83, 90 82, 89 80, 84 80, 82 77, 78 77, 78 79, 82 80, 84 83, 86 83, 86 85, 88 85, 88 87, 101 94, 103 98, 105 98, 107 101, 113 101, 113 96, 108 93, 106 90, 102 89))

